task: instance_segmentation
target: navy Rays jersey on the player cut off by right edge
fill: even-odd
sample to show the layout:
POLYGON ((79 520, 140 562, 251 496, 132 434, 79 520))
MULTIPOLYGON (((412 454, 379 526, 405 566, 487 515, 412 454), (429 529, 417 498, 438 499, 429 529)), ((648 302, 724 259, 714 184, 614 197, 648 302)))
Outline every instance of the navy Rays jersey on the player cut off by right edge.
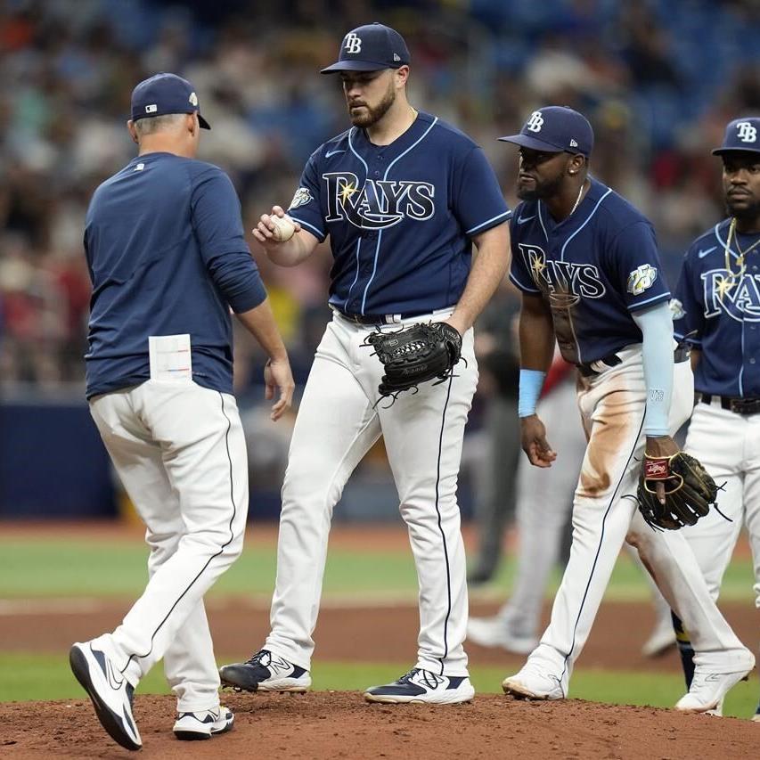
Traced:
MULTIPOLYGON (((740 274, 739 252, 731 241, 725 257, 729 220, 691 243, 672 303, 674 334, 702 351, 694 387, 715 396, 760 396, 760 251, 748 253, 740 274), (731 277, 731 273, 734 274, 731 277)), ((739 236, 746 250, 757 233, 739 236)))

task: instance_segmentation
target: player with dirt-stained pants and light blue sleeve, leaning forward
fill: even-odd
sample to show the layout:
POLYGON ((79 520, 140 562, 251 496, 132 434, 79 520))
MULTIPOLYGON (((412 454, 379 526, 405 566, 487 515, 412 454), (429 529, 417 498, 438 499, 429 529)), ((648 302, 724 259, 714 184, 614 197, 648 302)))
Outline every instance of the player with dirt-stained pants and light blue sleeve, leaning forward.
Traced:
MULTIPOLYGON (((687 352, 674 353, 673 320, 650 223, 588 176, 592 127, 577 111, 534 111, 519 135, 518 197, 511 223, 511 280, 523 291, 519 416, 537 467, 557 454, 535 403, 560 351, 581 375, 578 406, 588 445, 573 505, 573 543, 552 620, 508 693, 562 699, 576 658, 627 540, 692 633, 697 674, 676 707, 705 712, 755 665, 715 607, 685 536, 656 532, 633 498, 646 451, 678 451, 671 434, 691 412, 687 352), (698 677, 699 676, 699 677, 698 677)), ((662 484, 660 484, 662 485, 662 484)), ((664 501, 664 494, 659 498, 664 501)))

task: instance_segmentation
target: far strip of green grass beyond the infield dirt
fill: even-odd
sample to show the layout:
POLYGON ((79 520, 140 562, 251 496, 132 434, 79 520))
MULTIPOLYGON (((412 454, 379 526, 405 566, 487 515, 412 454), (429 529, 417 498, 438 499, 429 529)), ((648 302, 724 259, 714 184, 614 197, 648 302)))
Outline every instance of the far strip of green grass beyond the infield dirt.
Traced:
MULTIPOLYGON (((369 537, 368 537, 369 538, 369 537)), ((371 538, 369 538, 371 541, 371 538)), ((146 582, 147 549, 128 541, 96 542, 69 537, 0 539, 0 599, 52 597, 135 597, 146 582)), ((211 596, 264 595, 274 588, 276 551, 274 544, 252 542, 232 568, 211 590, 211 596)), ((485 589, 473 594, 503 598, 511 588, 515 565, 503 563, 498 576, 485 589)), ((728 568, 723 601, 752 601, 753 570, 750 560, 735 560, 728 568)), ((553 595, 559 574, 552 579, 547 595, 553 595)), ((417 576, 412 553, 405 551, 347 551, 336 547, 328 555, 324 578, 326 596, 338 593, 406 594, 413 599, 417 576)), ((642 601, 649 598, 642 571, 627 553, 617 561, 607 598, 642 601)))

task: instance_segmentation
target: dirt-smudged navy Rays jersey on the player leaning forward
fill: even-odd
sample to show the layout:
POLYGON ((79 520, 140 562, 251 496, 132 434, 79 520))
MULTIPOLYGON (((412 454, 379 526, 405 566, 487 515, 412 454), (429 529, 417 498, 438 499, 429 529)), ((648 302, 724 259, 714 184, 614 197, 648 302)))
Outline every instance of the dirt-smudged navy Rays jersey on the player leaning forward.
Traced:
POLYGON ((601 182, 557 224, 542 200, 527 200, 511 220, 510 279, 552 307, 562 356, 595 362, 642 331, 631 312, 670 298, 652 225, 601 182))

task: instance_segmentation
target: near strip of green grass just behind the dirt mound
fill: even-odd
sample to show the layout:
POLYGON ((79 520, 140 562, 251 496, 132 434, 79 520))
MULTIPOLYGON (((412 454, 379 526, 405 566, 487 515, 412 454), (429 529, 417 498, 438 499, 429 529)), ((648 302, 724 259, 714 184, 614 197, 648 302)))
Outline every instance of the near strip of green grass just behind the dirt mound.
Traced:
MULTIPOLYGON (((220 662, 234 657, 220 657, 220 662)), ((367 686, 396 679, 405 665, 346 662, 315 662, 314 688, 319 691, 362 691, 367 686)), ((0 701, 30 699, 82 699, 84 692, 69 671, 66 654, 0 654, 0 701)), ((480 693, 501 693, 501 682, 509 675, 494 666, 473 666, 472 682, 480 693)), ((570 696, 627 705, 672 707, 683 693, 679 674, 634 673, 595 668, 579 668, 573 676, 570 696)), ((168 694, 160 666, 153 668, 140 683, 138 693, 168 694)), ((750 682, 740 683, 726 699, 725 715, 748 717, 755 712, 758 683, 755 675, 750 682)), ((266 699, 265 696, 251 699, 266 699)), ((358 699, 358 695, 357 695, 358 699)))

